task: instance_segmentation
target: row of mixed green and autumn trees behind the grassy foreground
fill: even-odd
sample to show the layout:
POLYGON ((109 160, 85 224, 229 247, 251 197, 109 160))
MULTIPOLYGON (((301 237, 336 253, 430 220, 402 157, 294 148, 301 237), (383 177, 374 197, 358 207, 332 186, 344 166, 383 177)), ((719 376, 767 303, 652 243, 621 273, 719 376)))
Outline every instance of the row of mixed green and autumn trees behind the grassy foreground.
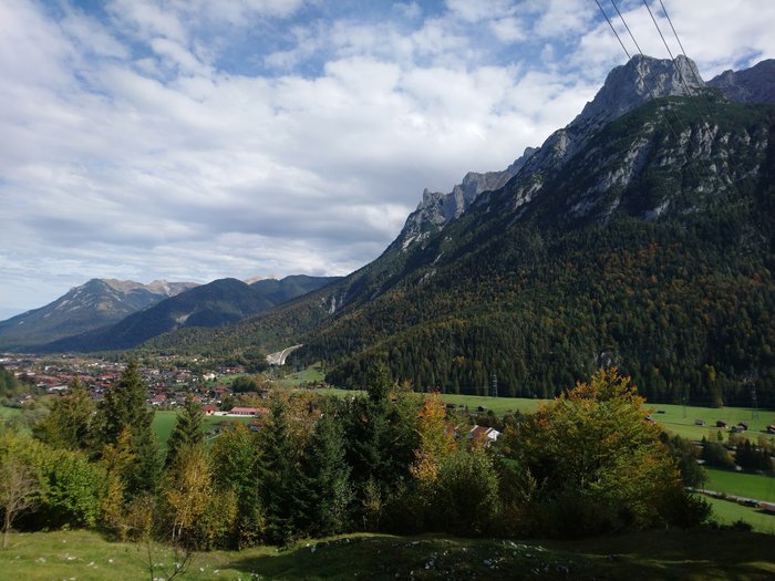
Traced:
POLYGON ((683 487, 693 450, 661 437, 616 370, 505 417, 492 446, 469 438, 468 418, 438 394, 396 384, 384 362, 364 387, 350 398, 277 391, 257 430, 235 424, 211 443, 189 398, 162 454, 135 363, 96 406, 75 383, 31 436, 0 430, 4 531, 84 527, 207 550, 352 531, 585 536, 707 518, 683 487))

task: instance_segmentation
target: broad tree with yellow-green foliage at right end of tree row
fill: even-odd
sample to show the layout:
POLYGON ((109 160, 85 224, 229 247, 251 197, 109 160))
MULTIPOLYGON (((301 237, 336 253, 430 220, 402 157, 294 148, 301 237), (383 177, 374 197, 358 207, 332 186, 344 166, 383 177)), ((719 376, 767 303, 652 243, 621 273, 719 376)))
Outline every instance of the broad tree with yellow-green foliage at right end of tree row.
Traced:
POLYGON ((545 532, 668 523, 691 504, 643 404, 629 377, 600 370, 523 426, 518 459, 538 483, 545 532))

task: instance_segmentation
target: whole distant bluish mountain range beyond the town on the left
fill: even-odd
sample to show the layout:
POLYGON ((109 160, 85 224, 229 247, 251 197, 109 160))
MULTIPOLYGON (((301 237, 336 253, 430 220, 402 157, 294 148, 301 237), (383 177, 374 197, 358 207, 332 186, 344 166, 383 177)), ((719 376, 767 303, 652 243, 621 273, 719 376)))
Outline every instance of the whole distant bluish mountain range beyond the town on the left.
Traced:
POLYGON ((161 333, 223 326, 319 289, 337 277, 291 276, 250 284, 93 279, 54 302, 0 322, 0 347, 38 352, 131 349, 161 333))

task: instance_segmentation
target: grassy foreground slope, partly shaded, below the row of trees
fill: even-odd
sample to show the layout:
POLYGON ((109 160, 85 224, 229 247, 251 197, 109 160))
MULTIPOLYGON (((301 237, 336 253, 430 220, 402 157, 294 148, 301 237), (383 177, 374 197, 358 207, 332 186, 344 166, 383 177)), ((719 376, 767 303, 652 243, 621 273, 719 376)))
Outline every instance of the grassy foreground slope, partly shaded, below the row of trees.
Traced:
MULTIPOLYGON (((172 551, 153 548, 154 577, 166 578, 172 551)), ((145 546, 84 531, 13 535, 0 552, 6 579, 147 579, 145 546)), ((286 550, 197 553, 186 580, 317 579, 772 579, 772 537, 670 530, 572 542, 350 536, 286 550)))

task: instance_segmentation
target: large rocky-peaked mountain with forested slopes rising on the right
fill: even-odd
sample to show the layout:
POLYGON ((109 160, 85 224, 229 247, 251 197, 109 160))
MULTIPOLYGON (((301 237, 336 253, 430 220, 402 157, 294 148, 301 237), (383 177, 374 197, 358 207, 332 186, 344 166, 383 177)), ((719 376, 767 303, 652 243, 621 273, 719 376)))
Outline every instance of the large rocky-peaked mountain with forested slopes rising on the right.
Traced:
POLYGON ((633 59, 464 211, 425 196, 378 260, 326 291, 148 346, 304 343, 294 357, 335 385, 385 356, 417 390, 527 397, 617 364, 651 401, 747 405, 753 388, 775 405, 774 127, 775 107, 731 102, 690 61, 633 59))

